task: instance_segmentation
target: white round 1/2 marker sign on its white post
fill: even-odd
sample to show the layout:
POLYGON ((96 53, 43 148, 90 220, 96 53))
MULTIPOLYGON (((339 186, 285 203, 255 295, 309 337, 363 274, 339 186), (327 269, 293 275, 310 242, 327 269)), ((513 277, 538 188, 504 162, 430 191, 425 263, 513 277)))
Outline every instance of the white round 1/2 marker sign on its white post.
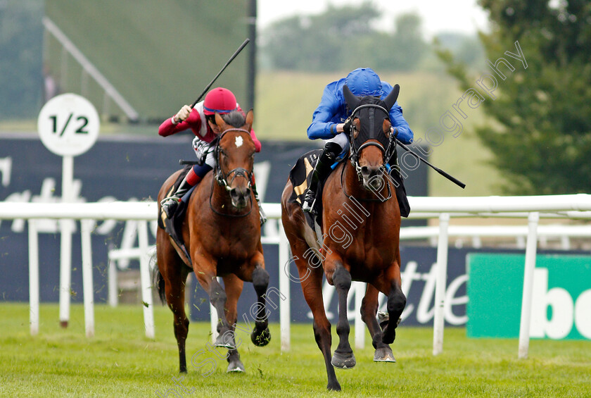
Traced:
MULTIPOLYGON (((49 151, 62 156, 62 201, 75 200, 74 156, 84 154, 96 142, 100 121, 94 106, 77 94, 61 94, 43 106, 37 119, 39 137, 49 151)), ((70 320, 70 285, 72 277, 73 220, 61 220, 60 247, 60 324, 70 320)), ((89 275, 92 278, 92 275, 89 275)))

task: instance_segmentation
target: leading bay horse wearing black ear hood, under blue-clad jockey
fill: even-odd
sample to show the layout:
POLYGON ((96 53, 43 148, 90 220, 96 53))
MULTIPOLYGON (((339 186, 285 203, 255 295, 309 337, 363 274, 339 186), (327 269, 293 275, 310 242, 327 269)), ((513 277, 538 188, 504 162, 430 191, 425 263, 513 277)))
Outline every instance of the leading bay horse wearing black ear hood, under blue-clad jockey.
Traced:
POLYGON ((392 194, 395 182, 385 167, 395 151, 388 110, 399 90, 395 85, 382 101, 379 97, 356 97, 349 87, 343 87, 352 109, 350 154, 324 183, 320 240, 300 205, 290 201, 290 180, 281 196, 281 221, 314 316, 314 337, 324 356, 329 390, 341 390, 334 367, 352 368, 356 363, 348 341, 347 296, 352 280, 367 282, 361 314, 376 349, 374 360, 394 361, 389 344, 395 339, 406 297, 400 280, 400 207, 392 194), (332 357, 331 324, 322 299, 323 275, 338 294, 339 342, 332 357), (376 319, 379 292, 388 297, 388 318, 381 324, 376 319))

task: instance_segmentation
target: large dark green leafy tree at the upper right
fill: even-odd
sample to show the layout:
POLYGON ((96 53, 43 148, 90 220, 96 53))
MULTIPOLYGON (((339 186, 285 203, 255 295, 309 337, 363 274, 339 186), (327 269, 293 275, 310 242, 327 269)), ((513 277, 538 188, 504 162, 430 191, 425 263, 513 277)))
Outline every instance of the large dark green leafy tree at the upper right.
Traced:
MULTIPOLYGON (((505 58, 494 96, 482 102, 492 122, 476 130, 511 194, 588 192, 591 180, 591 3, 587 0, 480 0, 492 30, 487 58, 505 58), (507 51, 519 43, 527 67, 507 51)), ((463 90, 466 67, 439 51, 463 90)), ((492 70, 487 70, 492 73, 492 70)))

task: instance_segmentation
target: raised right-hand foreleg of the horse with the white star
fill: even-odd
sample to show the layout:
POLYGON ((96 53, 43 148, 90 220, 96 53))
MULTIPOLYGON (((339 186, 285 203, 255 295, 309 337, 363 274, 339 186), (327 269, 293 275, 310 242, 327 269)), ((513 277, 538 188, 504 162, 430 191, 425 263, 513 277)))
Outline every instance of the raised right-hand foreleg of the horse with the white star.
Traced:
POLYGON ((260 251, 250 261, 250 264, 254 266, 253 285, 257 293, 256 309, 252 311, 253 316, 255 316, 255 328, 250 334, 250 340, 258 347, 264 347, 271 340, 267 309, 265 306, 265 294, 267 294, 267 287, 269 286, 269 273, 265 270, 264 261, 264 257, 260 251))

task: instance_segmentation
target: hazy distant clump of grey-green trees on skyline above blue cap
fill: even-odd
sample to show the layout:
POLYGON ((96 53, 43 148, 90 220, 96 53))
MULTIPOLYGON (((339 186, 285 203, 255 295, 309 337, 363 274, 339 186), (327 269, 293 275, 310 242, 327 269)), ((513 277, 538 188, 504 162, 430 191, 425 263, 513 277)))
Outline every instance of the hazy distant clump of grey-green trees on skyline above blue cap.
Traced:
POLYGON ((381 16, 371 1, 329 8, 319 15, 279 20, 262 34, 272 68, 330 72, 372 66, 413 70, 428 49, 416 14, 400 15, 395 32, 376 30, 381 16))

